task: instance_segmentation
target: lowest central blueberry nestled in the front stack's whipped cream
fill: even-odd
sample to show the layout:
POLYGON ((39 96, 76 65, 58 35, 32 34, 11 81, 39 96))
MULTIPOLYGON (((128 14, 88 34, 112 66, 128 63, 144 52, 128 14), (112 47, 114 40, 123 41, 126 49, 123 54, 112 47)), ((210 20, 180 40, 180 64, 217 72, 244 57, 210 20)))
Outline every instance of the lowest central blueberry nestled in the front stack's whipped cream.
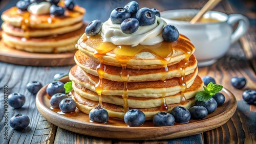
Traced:
POLYGON ((136 18, 127 18, 121 23, 121 31, 125 34, 132 34, 139 29, 139 21, 136 18))

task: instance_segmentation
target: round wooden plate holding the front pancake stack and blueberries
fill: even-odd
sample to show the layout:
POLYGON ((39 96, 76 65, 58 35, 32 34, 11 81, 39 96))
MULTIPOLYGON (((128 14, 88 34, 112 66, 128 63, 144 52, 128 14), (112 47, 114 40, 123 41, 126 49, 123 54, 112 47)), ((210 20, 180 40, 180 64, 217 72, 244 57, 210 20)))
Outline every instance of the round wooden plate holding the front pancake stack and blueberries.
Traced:
MULTIPOLYGON (((69 81, 69 78, 65 77, 60 81, 65 83, 69 81)), ((175 124, 167 127, 155 127, 152 121, 146 121, 140 127, 127 127, 122 120, 116 118, 110 118, 106 124, 91 123, 89 116, 79 110, 70 114, 58 114, 60 109, 51 109, 46 87, 47 85, 36 95, 36 106, 42 116, 60 128, 103 138, 149 140, 195 135, 222 126, 237 109, 236 98, 229 90, 223 88, 221 92, 225 95, 225 103, 203 120, 190 120, 187 124, 175 124)))

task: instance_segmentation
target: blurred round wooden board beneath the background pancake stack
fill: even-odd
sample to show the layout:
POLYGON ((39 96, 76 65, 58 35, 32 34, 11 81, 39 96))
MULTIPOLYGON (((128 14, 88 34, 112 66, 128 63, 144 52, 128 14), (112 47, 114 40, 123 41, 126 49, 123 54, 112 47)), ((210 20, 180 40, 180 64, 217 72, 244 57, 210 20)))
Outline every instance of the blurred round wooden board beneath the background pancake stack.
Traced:
POLYGON ((29 53, 7 47, 0 41, 0 61, 28 66, 63 66, 75 64, 75 52, 59 54, 29 53))

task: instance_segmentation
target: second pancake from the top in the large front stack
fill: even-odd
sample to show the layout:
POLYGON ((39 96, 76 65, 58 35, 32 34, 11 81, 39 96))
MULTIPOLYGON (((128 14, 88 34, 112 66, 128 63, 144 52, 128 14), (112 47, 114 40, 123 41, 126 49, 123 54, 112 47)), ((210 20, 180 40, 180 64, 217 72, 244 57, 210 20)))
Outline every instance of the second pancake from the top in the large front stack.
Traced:
MULTIPOLYGON (((76 64, 86 71, 89 74, 94 76, 98 76, 97 66, 98 63, 87 55, 83 54, 80 51, 77 51, 75 54, 75 62, 76 64)), ((197 67, 197 60, 194 55, 190 56, 188 66, 185 69, 185 75, 189 75, 194 72, 197 67)), ((112 81, 123 82, 120 77, 121 67, 105 65, 105 73, 103 75, 103 79, 108 79, 112 81)), ((179 70, 179 64, 168 66, 168 69, 159 68, 159 69, 130 69, 127 68, 127 73, 129 74, 128 82, 143 82, 143 81, 158 81, 165 79, 171 79, 174 77, 181 77, 181 73, 179 70), (168 72, 167 72, 167 71, 168 72), (166 73, 167 72, 167 73, 166 73)))

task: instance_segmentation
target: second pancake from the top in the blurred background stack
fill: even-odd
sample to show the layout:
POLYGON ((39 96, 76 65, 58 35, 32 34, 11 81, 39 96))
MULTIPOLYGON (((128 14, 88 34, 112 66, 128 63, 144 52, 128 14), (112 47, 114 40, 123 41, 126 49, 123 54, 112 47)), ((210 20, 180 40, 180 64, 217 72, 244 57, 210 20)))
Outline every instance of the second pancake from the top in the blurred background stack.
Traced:
POLYGON ((69 33, 72 31, 76 31, 80 29, 83 25, 82 21, 79 21, 78 23, 74 23, 73 25, 65 26, 65 27, 59 27, 59 28, 53 28, 53 29, 28 29, 26 32, 18 27, 13 27, 7 22, 4 22, 2 24, 2 29, 6 34, 13 35, 16 37, 45 37, 45 36, 51 36, 51 35, 60 35, 69 33))

